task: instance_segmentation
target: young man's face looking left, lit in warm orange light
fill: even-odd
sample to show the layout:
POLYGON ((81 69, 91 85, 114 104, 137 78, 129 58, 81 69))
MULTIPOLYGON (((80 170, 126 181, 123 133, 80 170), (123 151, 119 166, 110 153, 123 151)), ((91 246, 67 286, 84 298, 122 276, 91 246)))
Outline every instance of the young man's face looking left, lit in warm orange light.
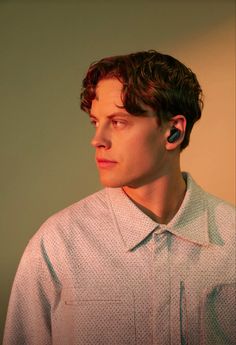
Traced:
POLYGON ((123 105, 121 91, 118 79, 98 83, 90 114, 92 145, 104 186, 136 188, 164 173, 166 139, 153 110, 146 107, 145 116, 134 116, 118 107, 123 105))

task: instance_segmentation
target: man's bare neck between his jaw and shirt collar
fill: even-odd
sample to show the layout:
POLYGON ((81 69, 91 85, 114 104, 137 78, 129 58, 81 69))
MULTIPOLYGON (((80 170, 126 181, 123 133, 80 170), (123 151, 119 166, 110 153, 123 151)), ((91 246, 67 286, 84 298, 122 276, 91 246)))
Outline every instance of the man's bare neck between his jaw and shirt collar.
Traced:
POLYGON ((180 169, 138 188, 125 186, 128 197, 150 218, 168 224, 184 199, 186 184, 180 169))

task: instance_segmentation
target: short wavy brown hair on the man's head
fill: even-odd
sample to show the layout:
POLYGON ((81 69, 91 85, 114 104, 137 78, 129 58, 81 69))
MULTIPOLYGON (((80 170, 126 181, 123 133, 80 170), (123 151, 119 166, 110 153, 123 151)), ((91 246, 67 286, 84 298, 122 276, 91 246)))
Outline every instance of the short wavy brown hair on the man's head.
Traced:
POLYGON ((97 84, 107 78, 122 82, 123 105, 132 115, 143 115, 143 104, 155 111, 160 122, 184 115, 187 126, 181 150, 189 144, 191 130, 203 108, 202 89, 191 69, 155 50, 103 58, 90 65, 83 80, 82 110, 90 113, 97 84))

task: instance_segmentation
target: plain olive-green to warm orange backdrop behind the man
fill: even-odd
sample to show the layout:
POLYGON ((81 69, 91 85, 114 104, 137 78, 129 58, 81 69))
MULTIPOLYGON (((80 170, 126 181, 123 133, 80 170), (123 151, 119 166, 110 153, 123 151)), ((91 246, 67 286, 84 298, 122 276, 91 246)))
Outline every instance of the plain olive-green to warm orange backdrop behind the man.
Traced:
POLYGON ((182 169, 234 203, 233 0, 0 1, 1 332, 28 240, 51 214, 101 188, 79 107, 89 64, 147 49, 197 74, 205 108, 182 169))

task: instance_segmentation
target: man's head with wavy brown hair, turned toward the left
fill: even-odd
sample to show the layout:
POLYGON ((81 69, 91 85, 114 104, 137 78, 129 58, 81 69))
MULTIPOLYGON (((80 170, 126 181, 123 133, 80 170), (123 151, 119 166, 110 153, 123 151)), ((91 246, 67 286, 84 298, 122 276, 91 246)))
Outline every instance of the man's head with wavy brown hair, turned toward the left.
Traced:
POLYGON ((103 185, 153 186, 180 174, 179 154, 201 115, 195 75, 155 51, 102 59, 83 81, 81 108, 95 126, 92 145, 103 185), (180 134, 169 141, 173 131, 180 134))

